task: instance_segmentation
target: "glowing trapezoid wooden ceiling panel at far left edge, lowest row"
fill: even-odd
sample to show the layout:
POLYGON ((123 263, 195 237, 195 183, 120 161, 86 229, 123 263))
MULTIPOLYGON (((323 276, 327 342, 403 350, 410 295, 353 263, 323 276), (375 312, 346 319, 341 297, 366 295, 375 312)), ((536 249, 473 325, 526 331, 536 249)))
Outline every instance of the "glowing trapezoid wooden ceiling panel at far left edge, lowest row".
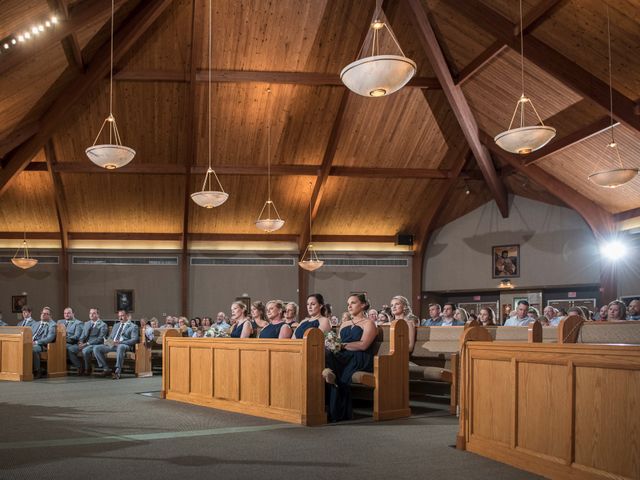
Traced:
POLYGON ((0 197, 0 204, 0 231, 59 230, 53 186, 47 172, 18 174, 16 181, 0 197))

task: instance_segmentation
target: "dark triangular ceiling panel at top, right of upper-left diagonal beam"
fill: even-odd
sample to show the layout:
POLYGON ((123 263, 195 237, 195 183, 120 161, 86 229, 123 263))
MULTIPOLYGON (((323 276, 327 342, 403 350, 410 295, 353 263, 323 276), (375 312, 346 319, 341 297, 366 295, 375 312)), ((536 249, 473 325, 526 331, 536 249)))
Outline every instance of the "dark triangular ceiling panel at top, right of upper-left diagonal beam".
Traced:
POLYGON ((120 69, 185 71, 190 56, 191 4, 192 0, 174 1, 138 41, 139 47, 119 62, 120 69))

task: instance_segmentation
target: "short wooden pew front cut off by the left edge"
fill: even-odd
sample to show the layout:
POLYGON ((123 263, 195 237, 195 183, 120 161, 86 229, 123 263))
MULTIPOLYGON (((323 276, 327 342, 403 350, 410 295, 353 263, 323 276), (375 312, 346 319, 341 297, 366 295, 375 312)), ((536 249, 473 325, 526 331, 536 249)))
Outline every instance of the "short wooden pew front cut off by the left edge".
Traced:
POLYGON ((0 380, 33 380, 32 335, 29 327, 0 327, 0 380))

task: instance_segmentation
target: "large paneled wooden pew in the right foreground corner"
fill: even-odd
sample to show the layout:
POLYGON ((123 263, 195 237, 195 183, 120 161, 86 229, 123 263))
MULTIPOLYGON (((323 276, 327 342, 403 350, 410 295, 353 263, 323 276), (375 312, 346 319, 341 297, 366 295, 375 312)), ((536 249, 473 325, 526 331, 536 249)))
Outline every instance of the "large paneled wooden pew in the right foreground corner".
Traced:
POLYGON ((640 343, 629 323, 561 323, 559 340, 581 343, 465 343, 457 446, 548 478, 640 478, 640 345, 619 343, 640 343))

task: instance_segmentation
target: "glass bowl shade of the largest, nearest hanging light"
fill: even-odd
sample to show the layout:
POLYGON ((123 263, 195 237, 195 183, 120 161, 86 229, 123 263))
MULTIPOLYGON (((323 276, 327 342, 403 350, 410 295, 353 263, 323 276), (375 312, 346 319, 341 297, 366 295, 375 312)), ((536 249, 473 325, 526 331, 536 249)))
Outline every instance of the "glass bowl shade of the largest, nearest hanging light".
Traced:
POLYGON ((383 97, 404 87, 416 73, 416 63, 400 55, 361 58, 342 69, 340 80, 364 97, 383 97))

